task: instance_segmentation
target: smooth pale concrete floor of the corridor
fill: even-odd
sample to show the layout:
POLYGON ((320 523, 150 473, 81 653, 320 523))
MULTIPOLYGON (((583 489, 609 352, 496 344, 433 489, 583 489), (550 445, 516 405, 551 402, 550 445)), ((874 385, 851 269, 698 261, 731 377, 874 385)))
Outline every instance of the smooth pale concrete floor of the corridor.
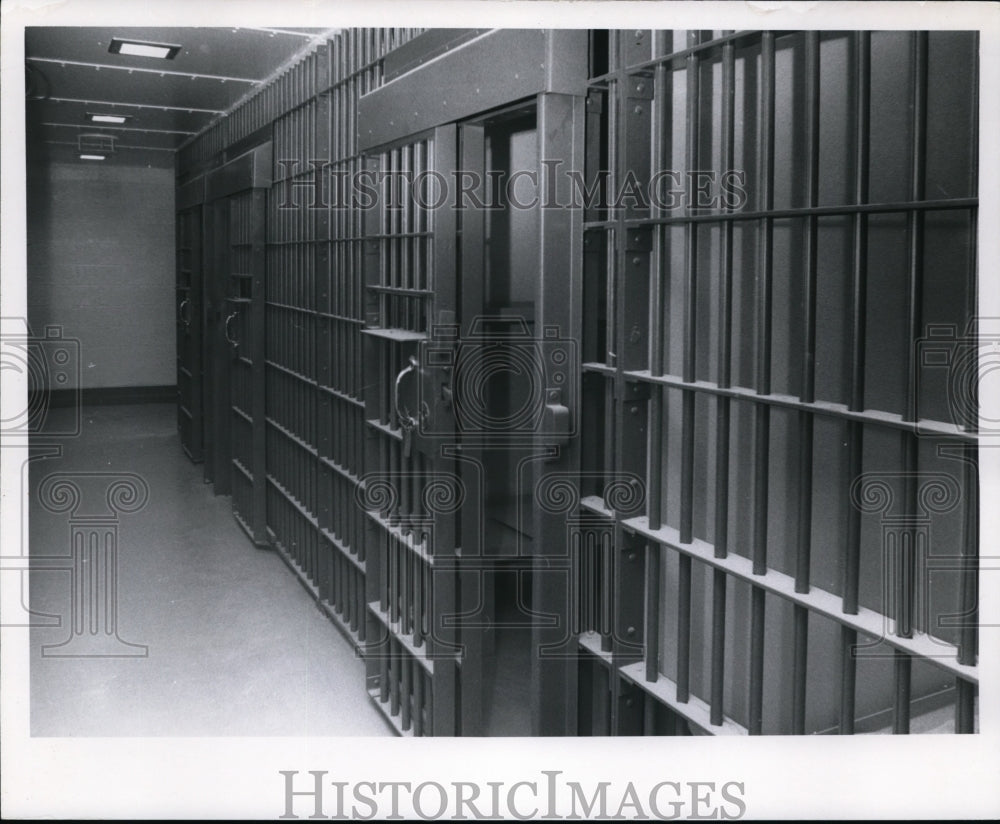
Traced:
MULTIPOLYGON (((68 414, 53 410, 51 422, 68 414)), ((363 662, 203 483, 175 416, 169 404, 85 408, 63 456, 32 464, 33 556, 69 554, 69 515, 39 504, 45 476, 132 472, 149 485, 148 504, 120 518, 117 599, 119 636, 148 655, 43 657, 70 632, 70 575, 32 573, 32 609, 62 619, 31 631, 32 735, 391 735, 365 693, 363 662)))

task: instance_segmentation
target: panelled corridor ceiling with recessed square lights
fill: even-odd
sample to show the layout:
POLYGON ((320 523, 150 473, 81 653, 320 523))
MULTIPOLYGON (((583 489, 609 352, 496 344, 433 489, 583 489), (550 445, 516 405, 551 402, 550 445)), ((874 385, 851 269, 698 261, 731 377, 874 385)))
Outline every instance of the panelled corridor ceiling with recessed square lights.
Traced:
POLYGON ((192 135, 308 52, 326 29, 49 27, 25 29, 27 137, 33 159, 80 160, 114 138, 105 162, 172 166, 192 135), (115 54, 113 37, 179 45, 173 59, 115 54), (121 125, 90 114, 126 115, 121 125))

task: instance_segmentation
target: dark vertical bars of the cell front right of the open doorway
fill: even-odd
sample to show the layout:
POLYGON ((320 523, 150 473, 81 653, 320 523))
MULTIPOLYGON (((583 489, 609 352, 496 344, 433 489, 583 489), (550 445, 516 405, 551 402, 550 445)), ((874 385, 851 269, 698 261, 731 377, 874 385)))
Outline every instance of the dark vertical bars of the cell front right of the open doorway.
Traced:
MULTIPOLYGON (((705 41, 704 33, 689 32, 686 42, 685 53, 682 58, 674 58, 668 55, 669 46, 666 45, 663 33, 654 33, 652 38, 653 53, 656 55, 667 55, 669 59, 658 62, 650 67, 643 66, 645 75, 652 75, 654 82, 654 116, 653 134, 654 140, 651 147, 651 160, 655 169, 664 168, 666 162, 666 151, 663 140, 658 135, 669 132, 670 100, 668 77, 670 71, 684 70, 686 73, 686 111, 685 117, 685 161, 688 168, 701 168, 699 166, 698 148, 700 125, 699 106, 703 105, 703 95, 700 94, 698 71, 699 61, 703 57, 720 56, 721 78, 719 86, 721 88, 721 155, 726 168, 733 168, 733 158, 735 150, 735 55, 734 47, 736 39, 720 33, 721 38, 716 43, 705 41), (715 46, 715 48, 711 48, 715 46), (682 62, 683 61, 683 62, 682 62), (659 114, 657 114, 659 113, 659 114)), ((817 32, 807 32, 804 37, 805 51, 805 204, 804 204, 804 291, 802 300, 802 381, 801 381, 801 401, 805 404, 813 404, 815 398, 815 362, 816 362, 816 311, 817 311, 817 223, 818 215, 810 213, 810 209, 815 209, 818 204, 818 178, 819 178, 819 123, 820 123, 820 58, 819 58, 819 34, 817 32)), ((866 32, 859 32, 850 35, 853 52, 853 88, 852 99, 854 101, 854 124, 855 124, 855 162, 854 162, 854 203, 863 207, 868 202, 868 179, 869 179, 869 157, 870 157, 870 96, 871 96, 871 38, 866 32)), ((771 32, 763 32, 759 35, 760 41, 760 91, 758 98, 758 120, 759 120, 759 140, 760 153, 759 163, 759 186, 761 189, 761 217, 756 218, 758 222, 758 260, 756 279, 756 323, 754 324, 754 347, 756 351, 756 392, 758 395, 766 396, 771 393, 770 365, 771 365, 771 313, 772 313, 772 277, 773 277, 773 227, 774 218, 768 213, 773 211, 773 175, 774 175, 774 147, 775 147, 775 35, 771 32)), ((746 44, 744 35, 739 41, 746 44)), ((908 288, 907 288, 907 325, 910 340, 916 341, 920 334, 921 319, 920 307, 922 305, 921 276, 922 276, 922 251, 923 251, 923 221, 924 211, 919 204, 925 198, 923 175, 926 160, 926 107, 927 107, 927 33, 916 32, 911 35, 912 43, 912 65, 913 76, 911 84, 911 116, 913 119, 911 155, 911 190, 910 198, 915 204, 913 208, 905 209, 907 215, 907 235, 908 235, 908 288)), ((676 44, 675 44, 676 47, 676 44)), ((616 111, 616 94, 621 96, 618 90, 623 84, 623 72, 628 62, 627 46, 623 47, 614 37, 611 38, 609 47, 610 71, 606 77, 600 79, 600 88, 606 89, 606 107, 611 112, 616 111), (617 71, 616 71, 617 69, 617 71)), ((624 104, 622 104, 624 105, 624 104)), ((605 119, 605 128, 608 131, 607 140, 611 149, 609 154, 614 157, 616 154, 615 144, 619 140, 628 139, 628 135, 619 134, 620 128, 616 128, 613 119, 605 119)), ((612 180, 619 180, 620 175, 626 170, 618 172, 618 177, 612 180)), ((654 210, 658 207, 654 206, 654 210)), ((964 206, 963 206, 964 208, 964 206)), ((974 207, 972 207, 974 208, 974 207)), ((731 210, 727 210, 731 211, 731 210)), ((663 375, 663 331, 660 319, 664 317, 664 293, 665 289, 661 283, 663 273, 666 270, 667 257, 664 252, 666 248, 664 223, 658 223, 660 217, 657 211, 653 211, 650 217, 653 227, 653 253, 651 255, 651 271, 653 277, 650 281, 650 299, 652 307, 652 324, 649 330, 650 354, 649 354, 649 374, 651 377, 663 375)), ((712 219, 712 218, 707 218, 712 219)), ((865 364, 865 321, 867 318, 867 308, 865 306, 865 296, 867 293, 867 214, 863 208, 857 209, 852 217, 852 243, 853 243, 853 266, 851 268, 851 380, 850 380, 850 411, 864 410, 864 364, 865 364)), ((649 221, 647 221, 649 222, 649 221)), ((725 219, 725 211, 719 216, 720 225, 720 270, 718 282, 718 297, 716 305, 718 307, 719 323, 719 363, 718 363, 718 386, 728 388, 731 380, 731 351, 732 351, 732 279, 733 279, 733 222, 725 219)), ((591 223, 599 231, 604 225, 591 223)), ((626 222, 626 225, 627 222, 626 222)), ((633 224, 638 225, 638 224, 633 224)), ((625 234, 625 226, 618 224, 619 231, 625 234)), ((696 380, 694 373, 695 341, 697 339, 697 244, 698 244, 698 224, 687 222, 684 224, 685 237, 685 267, 683 300, 683 357, 682 376, 685 384, 693 384, 696 380)), ((610 259, 610 258, 609 258, 610 259)), ((974 266, 970 271, 970 278, 974 284, 974 266)), ((615 273, 610 270, 608 273, 606 286, 609 292, 614 292, 620 288, 616 282, 615 273)), ((974 312, 975 298, 974 286, 970 289, 970 316, 974 312)), ((676 298, 675 298, 676 299, 676 298)), ((609 318, 613 318, 613 312, 608 309, 609 318)), ((609 320, 609 325, 611 321, 609 320)), ((613 329, 608 329, 607 345, 613 345, 612 341, 617 340, 613 329)), ((585 348, 586 348, 585 342, 585 348)), ((591 347, 593 348, 593 347, 591 347)), ((609 356, 603 361, 608 366, 614 366, 614 358, 609 356)), ((904 420, 915 421, 917 416, 917 363, 915 352, 911 352, 910 360, 907 363, 907 386, 906 386, 906 413, 904 420)), ((660 529, 662 526, 662 514, 659 502, 663 490, 663 479, 660 477, 659 455, 663 443, 661 436, 661 422, 663 420, 664 404, 663 389, 657 384, 652 384, 652 392, 649 403, 649 496, 653 502, 649 507, 648 523, 651 530, 660 529), (655 458, 653 460, 652 458, 655 458)), ((694 396, 693 389, 681 387, 681 431, 680 438, 680 515, 679 515, 679 540, 682 543, 692 540, 692 517, 694 510, 694 466, 693 466, 693 443, 694 443, 694 396)), ((717 424, 716 424, 716 511, 715 511, 715 545, 714 553, 716 557, 725 558, 728 550, 728 496, 729 496, 729 437, 730 437, 730 405, 731 400, 725 394, 717 396, 717 424)), ((770 404, 766 399, 753 405, 754 415, 754 496, 755 505, 753 507, 754 518, 750 529, 750 558, 753 564, 753 572, 757 575, 765 575, 769 569, 768 564, 768 478, 770 455, 770 404)), ((812 505, 813 505, 813 420, 815 413, 811 410, 802 409, 798 413, 799 432, 801 440, 799 444, 798 466, 802 483, 798 490, 798 518, 796 524, 796 549, 794 554, 794 582, 797 593, 807 594, 810 591, 810 536, 812 531, 812 505)), ((611 425, 606 417, 605 428, 611 425)), ((848 455, 850 461, 849 476, 857 477, 862 471, 862 433, 863 425, 859 421, 848 420, 846 422, 848 455)), ((902 430, 900 433, 903 439, 904 469, 910 473, 912 479, 917 466, 917 436, 915 432, 902 430)), ((605 443, 612 440, 609 432, 605 432, 605 443)), ((963 567, 966 571, 962 579, 962 590, 960 601, 966 613, 974 613, 975 608, 975 564, 977 557, 976 520, 978 511, 976 503, 971 494, 975 490, 975 445, 968 443, 958 447, 962 450, 966 459, 965 487, 970 494, 966 496, 966 536, 965 536, 965 557, 966 563, 963 567)), ((916 505, 916 485, 911 482, 905 490, 908 504, 911 509, 916 505)), ((901 637, 911 637, 914 632, 913 604, 914 604, 914 576, 915 576, 915 547, 917 535, 911 531, 900 543, 900 554, 898 557, 898 575, 895 577, 894 592, 891 603, 894 605, 894 614, 889 616, 894 621, 894 632, 901 637)), ((848 539, 844 548, 842 561, 843 570, 843 602, 842 609, 845 614, 857 614, 859 607, 859 574, 860 574, 860 546, 861 546, 861 517, 860 512, 852 508, 849 515, 848 539)), ((644 622, 646 639, 645 657, 645 677, 647 681, 657 681, 660 678, 660 662, 658 660, 659 633, 663 627, 661 603, 662 590, 659 581, 661 580, 662 561, 661 556, 664 548, 656 541, 647 544, 646 569, 645 569, 645 601, 646 616, 644 622)), ((685 703, 690 695, 690 634, 691 634, 691 556, 685 553, 678 555, 677 571, 677 597, 676 597, 676 700, 685 703)), ((726 590, 727 572, 722 569, 715 569, 712 572, 712 607, 711 607, 711 653, 710 653, 710 678, 709 678, 709 707, 710 726, 719 726, 723 723, 723 691, 725 684, 725 650, 727 638, 726 626, 726 590)), ((765 590, 762 587, 751 586, 751 625, 749 630, 749 683, 748 683, 748 719, 747 731, 751 734, 759 734, 763 730, 763 704, 764 691, 771 688, 765 684, 764 673, 764 643, 765 643, 765 590)), ((791 669, 791 728, 787 730, 793 734, 802 734, 806 731, 806 684, 808 679, 807 650, 809 643, 809 613, 808 606, 802 604, 793 605, 793 631, 792 631, 792 669, 791 669)), ((968 627, 963 627, 961 641, 958 646, 958 655, 961 663, 974 665, 975 655, 975 628, 974 621, 967 621, 968 627)), ((846 625, 841 633, 841 661, 842 661, 842 687, 841 687, 841 708, 840 708, 840 732, 853 733, 856 715, 855 692, 856 692, 856 647, 858 634, 846 625)), ((731 640, 729 640, 731 643, 731 640)), ((912 656, 898 652, 895 656, 895 717, 893 729, 897 733, 909 731, 910 724, 910 704, 911 704, 911 668, 912 656)), ((775 685, 776 686, 776 685, 775 685)), ((974 724, 974 700, 976 688, 972 682, 956 678, 956 723, 957 732, 970 732, 974 724)), ((649 700, 649 699, 647 699, 649 700)))

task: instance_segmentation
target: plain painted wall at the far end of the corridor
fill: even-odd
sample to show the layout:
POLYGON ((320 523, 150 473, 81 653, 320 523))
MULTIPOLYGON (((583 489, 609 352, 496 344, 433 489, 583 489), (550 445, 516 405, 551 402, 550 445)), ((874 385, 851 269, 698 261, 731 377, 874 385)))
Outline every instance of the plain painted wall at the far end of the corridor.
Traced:
POLYGON ((174 173, 28 168, 28 322, 81 346, 83 388, 176 382, 174 173))

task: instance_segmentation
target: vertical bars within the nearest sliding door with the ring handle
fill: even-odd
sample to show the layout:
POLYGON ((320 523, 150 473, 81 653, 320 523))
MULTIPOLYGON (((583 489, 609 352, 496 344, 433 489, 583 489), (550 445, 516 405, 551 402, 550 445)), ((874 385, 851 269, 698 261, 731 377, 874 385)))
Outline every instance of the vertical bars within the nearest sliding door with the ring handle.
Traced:
MULTIPOLYGON (((369 672, 378 682, 376 705, 401 732, 417 736, 434 729, 434 537, 425 501, 433 466, 412 448, 412 435, 405 431, 418 413, 418 400, 412 384, 397 386, 397 377, 405 378, 411 358, 418 356, 405 333, 429 331, 433 226, 410 181, 431 168, 432 152, 433 141, 421 139, 369 158, 367 168, 377 166, 388 186, 380 189, 376 211, 363 227, 364 328, 378 332, 366 335, 365 344, 366 363, 378 375, 366 406, 369 454, 392 486, 386 506, 369 513, 369 540, 378 548, 378 580, 369 589, 377 600, 370 610, 372 626, 382 635, 380 644, 370 644, 378 666, 369 672)), ((416 375, 409 380, 415 384, 416 375)))

